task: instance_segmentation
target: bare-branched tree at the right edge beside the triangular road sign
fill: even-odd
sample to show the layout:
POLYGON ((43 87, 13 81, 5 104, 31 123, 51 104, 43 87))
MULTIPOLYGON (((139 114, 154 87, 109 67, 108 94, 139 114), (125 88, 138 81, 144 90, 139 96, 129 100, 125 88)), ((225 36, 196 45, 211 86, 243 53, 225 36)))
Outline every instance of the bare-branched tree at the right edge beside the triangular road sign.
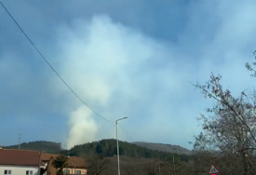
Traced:
MULTIPOLYGON (((235 98, 231 92, 223 90, 221 75, 211 74, 206 85, 196 84, 205 98, 215 100, 215 105, 207 109, 209 115, 200 114, 204 132, 195 137, 197 151, 215 152, 215 155, 239 155, 243 174, 255 174, 252 162, 256 149, 256 96, 244 91, 235 98)), ((242 174, 242 173, 241 173, 242 174)))

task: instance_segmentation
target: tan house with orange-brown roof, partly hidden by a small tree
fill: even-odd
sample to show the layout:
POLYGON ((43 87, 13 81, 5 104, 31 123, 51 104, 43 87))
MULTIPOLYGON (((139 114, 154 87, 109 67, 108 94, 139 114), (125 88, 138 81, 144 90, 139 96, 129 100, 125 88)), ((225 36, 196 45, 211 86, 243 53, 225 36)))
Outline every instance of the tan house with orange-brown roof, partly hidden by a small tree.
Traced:
MULTIPOLYGON (((56 175, 57 169, 52 166, 54 158, 60 155, 41 154, 41 160, 45 163, 46 168, 44 175, 56 175)), ((64 168, 65 174, 87 174, 87 164, 82 157, 68 156, 68 167, 64 168)))

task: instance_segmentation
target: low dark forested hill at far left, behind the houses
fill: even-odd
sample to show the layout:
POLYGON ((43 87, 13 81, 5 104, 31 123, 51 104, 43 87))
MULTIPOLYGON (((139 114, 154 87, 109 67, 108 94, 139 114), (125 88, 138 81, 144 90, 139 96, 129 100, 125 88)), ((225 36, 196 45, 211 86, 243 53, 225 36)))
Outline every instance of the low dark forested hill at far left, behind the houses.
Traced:
MULTIPOLYGON (((19 145, 4 146, 5 149, 18 149, 19 145)), ((30 141, 20 144, 22 150, 36 150, 45 153, 59 153, 61 151, 61 142, 52 141, 30 141)))

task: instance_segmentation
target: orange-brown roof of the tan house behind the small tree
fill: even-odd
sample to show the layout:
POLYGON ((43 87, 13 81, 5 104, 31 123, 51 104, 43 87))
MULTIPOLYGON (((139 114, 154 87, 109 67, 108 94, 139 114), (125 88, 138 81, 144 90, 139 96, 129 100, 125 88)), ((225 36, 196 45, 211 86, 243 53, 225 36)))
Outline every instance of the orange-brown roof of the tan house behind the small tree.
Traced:
MULTIPOLYGON (((55 158, 60 155, 43 154, 41 155, 42 161, 49 161, 51 158, 55 158)), ((70 168, 87 168, 87 164, 82 157, 68 156, 68 165, 70 168)))

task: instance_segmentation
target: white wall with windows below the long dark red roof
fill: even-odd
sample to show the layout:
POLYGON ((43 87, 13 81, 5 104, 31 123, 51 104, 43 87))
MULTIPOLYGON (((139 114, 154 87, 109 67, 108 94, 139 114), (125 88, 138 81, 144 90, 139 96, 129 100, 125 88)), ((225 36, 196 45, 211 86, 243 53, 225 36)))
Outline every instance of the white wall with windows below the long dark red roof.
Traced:
POLYGON ((27 170, 32 170, 33 175, 40 174, 38 173, 38 167, 0 165, 0 175, 5 175, 5 170, 11 170, 11 174, 7 174, 7 175, 26 175, 27 170))

